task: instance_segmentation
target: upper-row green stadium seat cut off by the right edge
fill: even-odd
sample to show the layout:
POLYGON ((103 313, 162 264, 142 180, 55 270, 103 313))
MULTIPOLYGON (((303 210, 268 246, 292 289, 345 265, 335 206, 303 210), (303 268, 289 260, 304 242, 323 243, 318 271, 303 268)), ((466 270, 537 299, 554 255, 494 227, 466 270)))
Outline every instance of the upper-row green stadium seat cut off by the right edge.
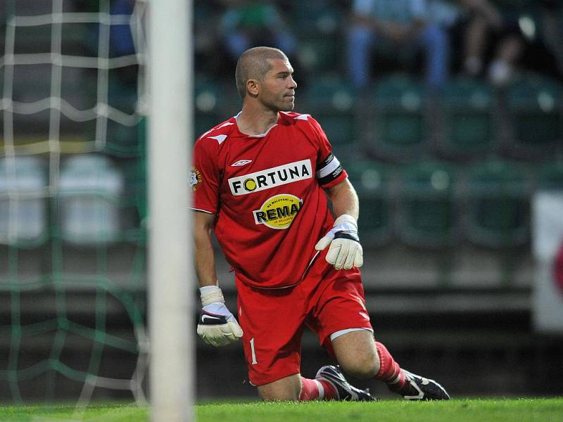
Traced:
POLYGON ((512 126, 510 152, 520 158, 552 154, 563 142, 563 86, 555 80, 528 75, 507 91, 512 126))

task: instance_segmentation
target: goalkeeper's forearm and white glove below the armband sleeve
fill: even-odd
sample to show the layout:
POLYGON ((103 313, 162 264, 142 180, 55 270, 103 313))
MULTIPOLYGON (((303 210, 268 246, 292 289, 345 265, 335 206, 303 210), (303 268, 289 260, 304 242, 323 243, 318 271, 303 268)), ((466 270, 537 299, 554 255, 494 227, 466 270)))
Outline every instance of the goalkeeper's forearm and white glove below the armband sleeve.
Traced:
POLYGON ((336 215, 332 229, 317 242, 315 249, 329 247, 325 259, 336 269, 362 267, 362 245, 358 237, 358 195, 348 179, 326 189, 336 215))

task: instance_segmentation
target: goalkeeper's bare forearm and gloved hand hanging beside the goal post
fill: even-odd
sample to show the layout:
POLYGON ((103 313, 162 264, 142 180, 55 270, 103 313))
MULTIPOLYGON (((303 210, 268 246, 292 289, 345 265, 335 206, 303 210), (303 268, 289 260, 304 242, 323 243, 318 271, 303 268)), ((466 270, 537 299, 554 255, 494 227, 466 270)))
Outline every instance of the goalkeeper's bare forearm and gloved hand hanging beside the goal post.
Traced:
POLYGON ((215 215, 194 213, 195 264, 201 295, 201 316, 198 335, 205 343, 224 346, 242 337, 242 330, 233 314, 224 305, 223 293, 217 286, 215 253, 211 242, 211 230, 215 215))

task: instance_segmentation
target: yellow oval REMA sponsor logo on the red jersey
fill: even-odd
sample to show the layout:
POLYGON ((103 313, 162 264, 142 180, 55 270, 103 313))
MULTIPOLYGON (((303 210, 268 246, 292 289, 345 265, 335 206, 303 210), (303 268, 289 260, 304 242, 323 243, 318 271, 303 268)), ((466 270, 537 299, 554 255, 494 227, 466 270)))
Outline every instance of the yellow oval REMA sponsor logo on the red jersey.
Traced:
POLYGON ((301 205, 303 200, 289 193, 272 196, 265 200, 260 210, 253 211, 254 221, 271 229, 287 229, 301 210, 301 205))

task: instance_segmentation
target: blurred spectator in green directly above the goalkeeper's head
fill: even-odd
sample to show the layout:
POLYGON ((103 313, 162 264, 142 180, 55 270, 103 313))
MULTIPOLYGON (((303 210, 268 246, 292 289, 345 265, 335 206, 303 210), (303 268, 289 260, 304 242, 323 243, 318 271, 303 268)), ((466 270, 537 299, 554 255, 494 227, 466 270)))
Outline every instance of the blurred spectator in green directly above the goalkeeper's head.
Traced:
POLYGON ((296 39, 286 27, 279 7, 273 1, 224 0, 222 35, 232 60, 254 46, 270 46, 293 56, 296 39))

